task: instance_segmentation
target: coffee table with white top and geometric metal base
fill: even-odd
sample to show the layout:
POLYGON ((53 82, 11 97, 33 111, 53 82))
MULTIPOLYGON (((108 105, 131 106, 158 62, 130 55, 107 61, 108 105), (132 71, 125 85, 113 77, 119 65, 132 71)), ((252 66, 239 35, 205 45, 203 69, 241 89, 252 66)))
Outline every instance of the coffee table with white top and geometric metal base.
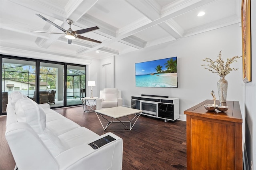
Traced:
POLYGON ((101 116, 103 119, 108 121, 106 127, 104 127, 102 124, 102 121, 100 120, 100 123, 104 130, 132 130, 132 127, 135 125, 136 121, 140 117, 142 110, 118 106, 118 107, 96 110, 95 113, 99 120, 100 120, 99 116, 101 116), (129 115, 134 115, 134 117, 132 119, 129 119, 128 118, 129 115), (120 118, 122 118, 122 117, 126 117, 126 119, 128 119, 128 121, 121 121, 120 118), (135 119, 135 121, 132 124, 132 121, 134 119, 135 119), (115 120, 117 120, 117 121, 115 121, 115 120), (112 123, 122 123, 122 125, 124 125, 126 128, 125 129, 107 129, 112 123), (125 125, 124 123, 129 123, 129 127, 127 125, 125 125))

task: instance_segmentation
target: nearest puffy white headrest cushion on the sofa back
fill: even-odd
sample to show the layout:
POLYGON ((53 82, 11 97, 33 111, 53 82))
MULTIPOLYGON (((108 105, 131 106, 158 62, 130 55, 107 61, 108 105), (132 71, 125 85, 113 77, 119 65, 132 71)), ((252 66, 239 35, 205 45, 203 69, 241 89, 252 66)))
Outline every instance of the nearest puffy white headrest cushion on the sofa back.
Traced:
POLYGON ((28 123, 37 134, 42 134, 46 127, 46 115, 42 107, 31 99, 20 99, 15 104, 18 122, 28 123))

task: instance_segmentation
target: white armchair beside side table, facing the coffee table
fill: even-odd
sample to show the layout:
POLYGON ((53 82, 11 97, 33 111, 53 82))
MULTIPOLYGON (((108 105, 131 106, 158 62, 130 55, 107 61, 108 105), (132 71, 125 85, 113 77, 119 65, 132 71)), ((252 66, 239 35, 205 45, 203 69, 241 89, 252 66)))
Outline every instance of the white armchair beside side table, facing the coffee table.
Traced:
POLYGON ((100 97, 96 99, 96 109, 122 106, 123 99, 121 91, 118 89, 103 89, 100 91, 100 97))

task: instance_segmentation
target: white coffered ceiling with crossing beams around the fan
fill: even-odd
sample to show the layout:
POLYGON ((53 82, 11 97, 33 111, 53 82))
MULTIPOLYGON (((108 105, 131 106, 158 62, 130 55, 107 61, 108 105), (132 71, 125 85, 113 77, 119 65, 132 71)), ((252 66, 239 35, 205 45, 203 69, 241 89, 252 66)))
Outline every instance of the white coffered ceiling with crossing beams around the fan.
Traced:
POLYGON ((240 23, 240 0, 0 0, 2 54, 47 54, 67 59, 103 59, 173 42, 231 24, 240 23), (198 17, 198 12, 205 15, 198 17), (60 32, 42 18, 72 30, 98 26, 81 34, 98 40, 75 39, 68 44, 60 32), (98 53, 96 53, 98 51, 98 53))

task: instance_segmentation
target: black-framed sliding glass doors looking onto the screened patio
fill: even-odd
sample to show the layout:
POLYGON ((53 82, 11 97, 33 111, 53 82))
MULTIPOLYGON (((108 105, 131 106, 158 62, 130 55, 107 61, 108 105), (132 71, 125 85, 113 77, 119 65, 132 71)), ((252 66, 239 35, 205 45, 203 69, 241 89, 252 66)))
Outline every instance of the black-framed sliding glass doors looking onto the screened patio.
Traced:
POLYGON ((2 58, 2 113, 13 91, 56 108, 82 105, 85 88, 85 65, 2 58))

